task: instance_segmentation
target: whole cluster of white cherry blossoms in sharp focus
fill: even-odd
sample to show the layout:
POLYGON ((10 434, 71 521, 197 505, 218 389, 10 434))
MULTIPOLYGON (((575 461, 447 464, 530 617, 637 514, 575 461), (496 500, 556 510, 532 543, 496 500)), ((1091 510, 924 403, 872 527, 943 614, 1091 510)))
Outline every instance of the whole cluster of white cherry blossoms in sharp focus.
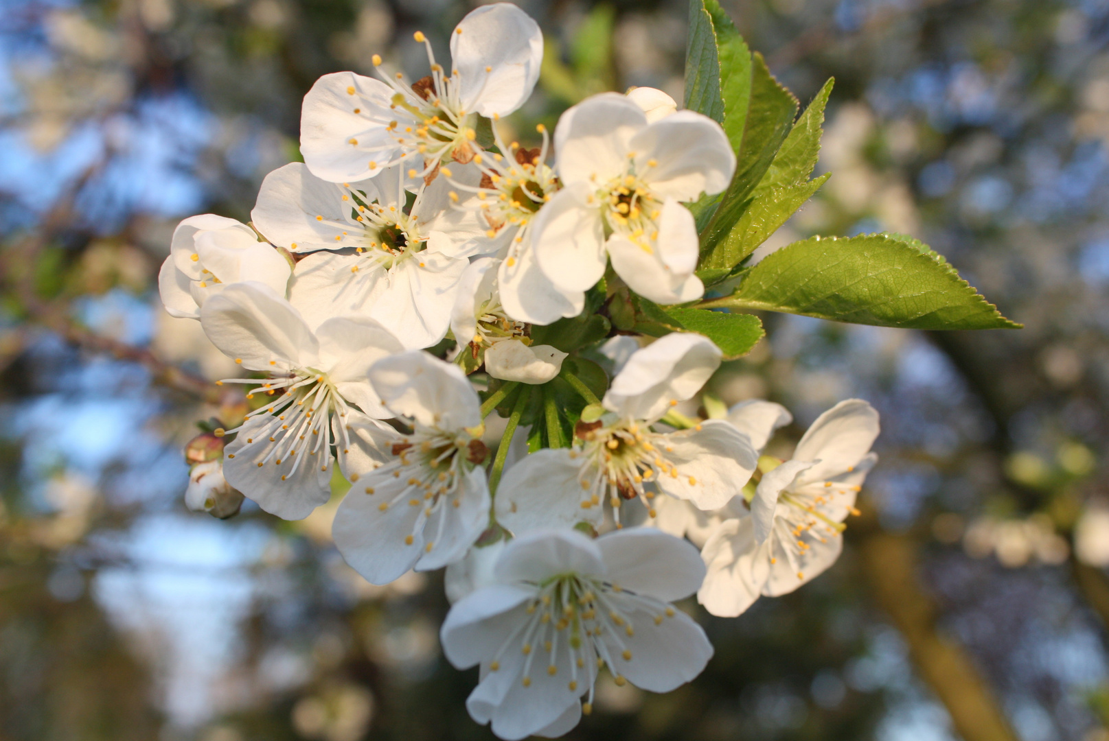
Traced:
POLYGON ((245 495, 303 518, 338 472, 333 534, 352 567, 374 584, 446 567, 441 641, 458 668, 480 666, 474 719, 557 737, 590 712, 602 670, 659 692, 701 672, 712 647, 674 601, 736 616, 831 566, 877 413, 842 402, 781 461, 762 455, 792 422, 776 403, 676 413, 721 363, 701 335, 535 342, 591 311, 606 280, 700 299, 686 204, 728 187, 735 155, 716 122, 651 89, 584 100, 536 148, 505 141, 543 49, 515 6, 468 14, 449 66, 415 39, 425 78, 375 56, 376 79, 316 82, 304 163, 265 178, 250 225, 207 214, 174 233, 165 308, 242 366, 221 383, 244 384, 252 410, 191 446, 186 503, 228 516, 245 495), (582 351, 607 366, 603 393, 563 368, 582 351), (513 419, 490 460, 488 384, 559 377, 584 404, 572 440, 529 445, 513 419))

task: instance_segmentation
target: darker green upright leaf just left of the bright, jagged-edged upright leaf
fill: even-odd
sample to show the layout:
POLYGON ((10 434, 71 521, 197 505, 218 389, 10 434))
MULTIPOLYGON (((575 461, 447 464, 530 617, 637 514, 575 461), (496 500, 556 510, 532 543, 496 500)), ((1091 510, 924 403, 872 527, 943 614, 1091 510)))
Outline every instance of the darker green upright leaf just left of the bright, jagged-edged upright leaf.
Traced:
POLYGON ((732 230, 751 205, 751 195, 770 168, 797 114, 797 99, 770 73, 762 54, 755 52, 751 68, 751 103, 744 120, 743 141, 736 155, 735 175, 720 206, 701 234, 701 267, 731 268, 716 245, 732 230))

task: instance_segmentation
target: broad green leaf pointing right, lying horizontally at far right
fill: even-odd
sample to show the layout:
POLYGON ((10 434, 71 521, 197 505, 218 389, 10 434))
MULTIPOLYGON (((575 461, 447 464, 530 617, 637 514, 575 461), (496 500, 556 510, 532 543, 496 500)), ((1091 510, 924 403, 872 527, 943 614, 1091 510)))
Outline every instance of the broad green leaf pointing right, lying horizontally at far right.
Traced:
POLYGON ((701 306, 910 329, 1020 327, 926 245, 886 234, 796 241, 752 267, 732 296, 701 306))

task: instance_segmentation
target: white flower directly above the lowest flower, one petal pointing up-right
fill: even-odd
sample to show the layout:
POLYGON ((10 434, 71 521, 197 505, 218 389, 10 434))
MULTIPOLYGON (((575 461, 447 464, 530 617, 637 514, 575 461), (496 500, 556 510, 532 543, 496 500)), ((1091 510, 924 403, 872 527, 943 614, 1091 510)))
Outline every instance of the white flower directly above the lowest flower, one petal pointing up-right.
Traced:
POLYGON ((674 432, 651 429, 701 390, 720 358, 711 340, 682 332, 638 350, 604 395, 608 412, 578 424, 572 449, 537 451, 506 472, 497 521, 510 531, 597 524, 607 503, 619 524, 622 501, 640 498, 653 517, 660 494, 702 510, 722 507, 754 472, 757 456, 747 436, 722 420, 674 432))

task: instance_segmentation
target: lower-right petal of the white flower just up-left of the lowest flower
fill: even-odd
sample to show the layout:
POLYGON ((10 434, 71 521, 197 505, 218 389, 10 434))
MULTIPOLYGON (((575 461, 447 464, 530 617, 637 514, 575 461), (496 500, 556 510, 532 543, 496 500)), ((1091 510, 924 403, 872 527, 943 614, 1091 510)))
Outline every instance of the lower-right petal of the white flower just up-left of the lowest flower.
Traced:
POLYGON ((460 475, 458 490, 440 503, 424 527, 424 541, 431 545, 416 564, 416 570, 442 568, 466 555, 489 525, 489 486, 485 469, 475 467, 460 475))

